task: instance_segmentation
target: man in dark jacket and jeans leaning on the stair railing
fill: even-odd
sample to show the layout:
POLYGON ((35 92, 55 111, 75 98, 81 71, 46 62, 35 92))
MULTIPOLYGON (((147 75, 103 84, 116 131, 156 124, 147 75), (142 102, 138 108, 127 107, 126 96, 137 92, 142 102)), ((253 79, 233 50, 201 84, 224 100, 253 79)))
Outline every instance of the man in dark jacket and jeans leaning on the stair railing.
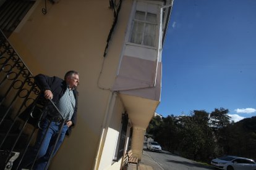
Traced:
POLYGON ((69 135, 70 127, 75 124, 77 117, 76 87, 79 85, 79 73, 73 70, 68 71, 64 76, 64 80, 56 76, 49 77, 40 74, 35 76, 35 82, 43 91, 45 99, 51 99, 56 103, 56 107, 61 113, 61 116, 53 116, 58 113, 56 109, 53 109, 48 111, 46 115, 43 115, 33 150, 23 158, 23 167, 29 164, 31 166, 32 159, 35 159, 35 155, 38 153, 33 169, 41 170, 46 168, 51 153, 53 152, 53 155, 55 155, 64 140, 65 134, 69 135), (61 129, 62 124, 60 120, 63 118, 66 122, 61 129), (57 139, 58 142, 54 148, 57 139))

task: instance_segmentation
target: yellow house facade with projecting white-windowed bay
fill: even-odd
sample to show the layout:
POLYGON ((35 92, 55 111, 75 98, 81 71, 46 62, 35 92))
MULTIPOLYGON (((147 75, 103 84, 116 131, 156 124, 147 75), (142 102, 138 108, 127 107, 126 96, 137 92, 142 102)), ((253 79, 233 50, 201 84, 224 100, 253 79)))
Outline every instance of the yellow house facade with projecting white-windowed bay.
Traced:
POLYGON ((145 129, 160 103, 172 5, 36 0, 14 30, 1 26, 33 75, 80 73, 77 124, 49 169, 121 169, 129 149, 141 158, 145 129))

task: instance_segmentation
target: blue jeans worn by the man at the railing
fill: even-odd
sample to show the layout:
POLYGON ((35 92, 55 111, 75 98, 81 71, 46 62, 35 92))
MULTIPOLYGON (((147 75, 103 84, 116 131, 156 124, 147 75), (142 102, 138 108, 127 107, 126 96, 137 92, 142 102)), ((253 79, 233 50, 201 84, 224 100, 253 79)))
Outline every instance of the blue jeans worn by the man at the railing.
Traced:
POLYGON ((59 136, 59 140, 56 144, 56 147, 53 151, 53 156, 56 154, 59 147, 61 146, 65 137, 66 131, 69 128, 67 124, 64 124, 62 130, 59 132, 59 129, 61 128, 61 123, 57 123, 53 121, 49 125, 49 129, 47 129, 48 125, 49 125, 49 121, 47 119, 43 121, 43 123, 41 123, 41 129, 38 131, 33 150, 31 153, 28 154, 28 157, 25 156, 27 157, 25 162, 27 162, 27 165, 28 165, 33 162, 31 158, 35 158, 36 153, 38 153, 35 165, 33 166, 34 167, 33 169, 36 169, 36 170, 45 169, 45 166, 51 156, 51 152, 53 151, 54 144, 58 138, 58 134, 61 133, 59 136))

